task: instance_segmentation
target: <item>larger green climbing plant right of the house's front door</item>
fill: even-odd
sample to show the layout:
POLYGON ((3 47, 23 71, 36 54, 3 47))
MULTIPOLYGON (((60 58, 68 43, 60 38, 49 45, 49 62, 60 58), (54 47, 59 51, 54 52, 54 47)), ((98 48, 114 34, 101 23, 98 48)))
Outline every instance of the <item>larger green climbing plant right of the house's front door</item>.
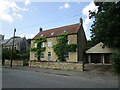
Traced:
POLYGON ((56 53, 58 60, 61 62, 65 60, 65 54, 68 52, 75 52, 76 51, 76 44, 67 44, 68 42, 68 33, 62 33, 57 37, 57 44, 53 45, 53 50, 56 53))

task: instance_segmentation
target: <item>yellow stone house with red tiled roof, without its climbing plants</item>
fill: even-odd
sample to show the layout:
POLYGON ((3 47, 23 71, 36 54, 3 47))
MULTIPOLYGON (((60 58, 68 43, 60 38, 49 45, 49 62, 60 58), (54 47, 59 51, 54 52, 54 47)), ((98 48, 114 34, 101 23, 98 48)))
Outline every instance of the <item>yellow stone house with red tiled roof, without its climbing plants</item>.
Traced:
MULTIPOLYGON (((46 47, 46 50, 41 53, 41 61, 56 61, 57 56, 52 48, 57 43, 57 36, 68 32, 68 44, 77 44, 76 52, 69 52, 65 55, 67 62, 79 62, 83 61, 84 51, 86 48, 86 36, 83 29, 83 20, 80 18, 80 22, 73 25, 53 28, 49 30, 42 30, 31 40, 31 48, 36 47, 34 43, 35 38, 46 37, 47 42, 42 43, 42 47, 46 47)), ((36 59, 36 52, 30 52, 30 60, 36 59)))

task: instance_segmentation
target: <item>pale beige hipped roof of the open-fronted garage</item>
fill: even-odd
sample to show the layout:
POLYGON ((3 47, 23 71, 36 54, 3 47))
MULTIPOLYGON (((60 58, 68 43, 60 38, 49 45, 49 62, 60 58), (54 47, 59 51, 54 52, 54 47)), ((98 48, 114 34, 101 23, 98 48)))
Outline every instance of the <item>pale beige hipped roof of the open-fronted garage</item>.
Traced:
POLYGON ((86 51, 86 53, 112 53, 112 49, 106 46, 103 47, 103 43, 100 42, 97 45, 91 47, 86 51))

